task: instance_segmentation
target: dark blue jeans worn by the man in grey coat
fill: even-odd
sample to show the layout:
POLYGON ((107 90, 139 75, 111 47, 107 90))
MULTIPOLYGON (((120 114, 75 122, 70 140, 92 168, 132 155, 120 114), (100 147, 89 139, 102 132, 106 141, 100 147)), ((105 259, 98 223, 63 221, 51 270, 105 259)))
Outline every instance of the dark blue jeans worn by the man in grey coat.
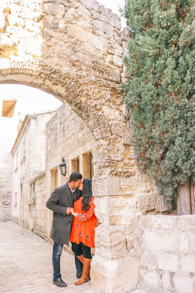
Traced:
MULTIPOLYGON (((53 269, 54 269, 53 279, 54 280, 59 279, 59 278, 61 279, 60 257, 62 254, 62 249, 63 249, 63 243, 54 242, 53 255, 52 255, 52 262, 53 262, 53 269)), ((77 257, 75 257, 75 265, 76 265, 77 274, 82 274, 82 266, 83 265, 77 257)))

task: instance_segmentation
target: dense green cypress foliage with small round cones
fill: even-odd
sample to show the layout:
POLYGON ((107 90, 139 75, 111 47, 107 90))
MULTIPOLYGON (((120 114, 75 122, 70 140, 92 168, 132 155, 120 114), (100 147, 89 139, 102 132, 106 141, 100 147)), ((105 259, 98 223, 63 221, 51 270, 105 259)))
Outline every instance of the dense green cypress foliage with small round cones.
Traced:
POLYGON ((175 187, 195 176, 195 1, 126 0, 125 100, 140 168, 173 204, 175 187))

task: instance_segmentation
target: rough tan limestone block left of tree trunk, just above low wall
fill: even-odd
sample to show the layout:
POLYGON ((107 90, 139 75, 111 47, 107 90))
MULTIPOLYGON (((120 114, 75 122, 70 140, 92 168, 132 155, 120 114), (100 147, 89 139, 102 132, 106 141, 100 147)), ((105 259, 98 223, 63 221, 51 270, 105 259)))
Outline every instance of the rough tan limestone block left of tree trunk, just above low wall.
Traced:
POLYGON ((163 212, 167 209, 165 206, 163 195, 143 195, 138 198, 139 211, 146 212, 150 210, 156 210, 158 212, 163 212))

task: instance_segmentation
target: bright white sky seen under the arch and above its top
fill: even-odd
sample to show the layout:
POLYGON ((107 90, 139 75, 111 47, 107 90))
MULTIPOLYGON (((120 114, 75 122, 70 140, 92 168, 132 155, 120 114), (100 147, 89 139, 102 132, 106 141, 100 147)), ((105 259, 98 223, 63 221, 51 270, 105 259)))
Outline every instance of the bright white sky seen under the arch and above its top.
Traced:
MULTIPOLYGON (((111 8, 113 13, 120 16, 118 5, 123 6, 124 1, 119 0, 98 0, 106 8, 111 8)), ((121 19, 122 28, 125 25, 125 19, 121 19)), ((62 104, 54 96, 49 95, 41 90, 23 85, 0 84, 0 100, 17 99, 20 100, 20 118, 23 119, 25 114, 38 113, 46 110, 59 108, 62 104), (41 98, 40 98, 41 97, 41 98)))

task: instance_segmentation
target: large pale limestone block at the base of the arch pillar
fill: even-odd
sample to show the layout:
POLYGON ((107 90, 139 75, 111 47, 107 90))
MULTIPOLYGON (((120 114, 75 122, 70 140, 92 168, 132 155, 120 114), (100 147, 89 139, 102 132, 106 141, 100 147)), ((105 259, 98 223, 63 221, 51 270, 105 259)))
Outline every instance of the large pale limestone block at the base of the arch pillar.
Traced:
POLYGON ((136 257, 108 260, 95 255, 90 270, 92 288, 106 293, 129 292, 137 287, 138 273, 136 257))

